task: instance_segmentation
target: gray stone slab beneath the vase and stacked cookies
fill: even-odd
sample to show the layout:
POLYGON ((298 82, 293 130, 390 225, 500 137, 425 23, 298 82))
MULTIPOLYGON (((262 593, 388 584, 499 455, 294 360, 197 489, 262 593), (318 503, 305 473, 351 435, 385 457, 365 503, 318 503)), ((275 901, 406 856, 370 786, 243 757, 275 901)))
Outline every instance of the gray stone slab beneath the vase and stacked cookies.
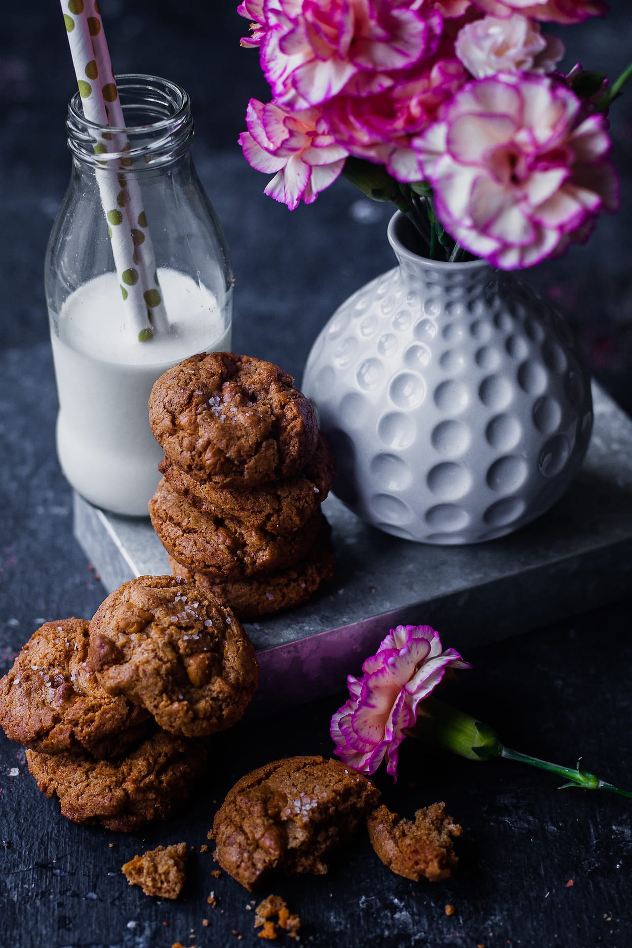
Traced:
MULTIPOLYGON (((632 592, 632 421, 594 385, 593 400, 580 474, 549 513, 510 537, 425 546, 388 537, 328 498, 334 583, 306 606, 246 624, 262 665, 260 708, 341 689, 398 623, 432 625, 467 650, 632 592)), ((76 495, 75 535, 108 591, 170 572, 149 520, 104 513, 76 495)))

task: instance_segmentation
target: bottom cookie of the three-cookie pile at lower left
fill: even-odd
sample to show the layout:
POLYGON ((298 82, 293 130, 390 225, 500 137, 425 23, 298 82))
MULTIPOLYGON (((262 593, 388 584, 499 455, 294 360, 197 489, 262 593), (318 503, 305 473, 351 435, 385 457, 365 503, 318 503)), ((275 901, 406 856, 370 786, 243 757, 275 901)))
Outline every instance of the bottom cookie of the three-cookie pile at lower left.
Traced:
POLYGON ((207 761, 201 742, 164 731, 117 760, 27 751, 28 770, 42 793, 59 798, 63 816, 121 832, 166 820, 187 802, 207 761))

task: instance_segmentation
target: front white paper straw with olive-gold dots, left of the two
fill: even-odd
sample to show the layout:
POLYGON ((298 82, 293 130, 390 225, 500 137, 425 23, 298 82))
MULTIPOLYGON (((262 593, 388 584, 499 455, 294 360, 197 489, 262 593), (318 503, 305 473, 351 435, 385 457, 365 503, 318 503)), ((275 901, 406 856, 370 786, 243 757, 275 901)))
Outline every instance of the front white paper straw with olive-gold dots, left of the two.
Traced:
MULTIPOLYGON (((99 70, 92 46, 92 34, 98 28, 102 29, 100 20, 87 15, 84 0, 61 0, 61 5, 83 114, 89 121, 107 126, 106 105, 99 84, 99 70)), ((95 145, 95 152, 102 154, 113 151, 118 149, 120 144, 117 137, 105 132, 101 134, 99 142, 95 145)), ((137 238, 135 240, 135 228, 130 226, 127 195, 115 169, 112 171, 97 169, 95 175, 112 242, 121 296, 129 317, 130 333, 140 341, 146 341, 153 337, 153 314, 152 308, 145 299, 146 281, 140 278, 141 258, 135 252, 137 238)), ((125 175, 126 184, 128 178, 129 175, 125 175)), ((160 300, 158 299, 157 302, 159 303, 160 300)))

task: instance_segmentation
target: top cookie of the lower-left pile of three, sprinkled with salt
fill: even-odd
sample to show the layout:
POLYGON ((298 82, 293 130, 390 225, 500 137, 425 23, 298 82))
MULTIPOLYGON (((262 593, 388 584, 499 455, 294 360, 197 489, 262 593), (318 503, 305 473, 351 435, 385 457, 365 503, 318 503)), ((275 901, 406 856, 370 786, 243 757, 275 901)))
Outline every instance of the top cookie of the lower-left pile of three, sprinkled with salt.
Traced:
POLYGON ((176 576, 140 576, 110 593, 90 623, 88 661, 108 694, 188 738, 239 720, 259 676, 233 613, 176 576))

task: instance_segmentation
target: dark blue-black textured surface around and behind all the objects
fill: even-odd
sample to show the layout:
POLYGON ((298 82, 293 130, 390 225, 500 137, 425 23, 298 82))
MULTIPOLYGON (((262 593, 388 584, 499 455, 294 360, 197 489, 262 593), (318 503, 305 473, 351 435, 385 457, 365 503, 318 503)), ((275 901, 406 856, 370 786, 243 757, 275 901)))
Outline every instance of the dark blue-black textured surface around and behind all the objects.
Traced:
MULTIPOLYGON (((611 76, 621 71, 632 52, 632 29, 626 0, 612 7, 603 22, 563 31, 572 50, 568 65, 579 59, 611 76)), ((224 223, 237 279, 236 351, 274 359, 299 377, 334 307, 392 265, 388 209, 345 183, 293 214, 264 197, 265 177, 244 163, 236 138, 248 98, 266 99, 267 92, 257 53, 238 46, 244 21, 232 0, 101 0, 101 8, 117 71, 162 74, 190 92, 198 170, 224 223)), ((70 491, 55 456, 42 281, 47 234, 69 172, 63 118, 73 89, 55 0, 3 5, 0 673, 44 620, 89 617, 104 594, 72 538, 70 491)), ((587 246, 529 273, 569 317, 594 373, 627 410, 631 102, 632 93, 612 110, 621 212, 600 222, 587 246)), ((479 649, 468 655, 475 667, 461 676, 453 700, 497 726, 511 746, 566 764, 582 753, 589 770, 632 786, 630 605, 479 649)), ((184 839, 199 849, 214 801, 247 770, 274 757, 330 754, 328 721, 343 699, 244 724, 219 738, 213 770, 190 809, 145 834, 110 834, 63 820, 58 805, 36 790, 22 750, 0 738, 0 841, 6 841, 0 842, 0 948, 163 948, 176 940, 223 948, 239 935, 244 944, 260 944, 246 909, 250 897, 226 875, 211 877, 210 855, 192 854, 190 882, 174 904, 128 887, 119 867, 158 843, 184 839), (211 890, 218 897, 214 910, 206 902, 211 890)), ((262 891, 287 897, 303 918, 305 943, 632 944, 629 802, 557 792, 554 777, 508 762, 434 757, 411 741, 397 785, 384 777, 378 782, 388 804, 407 815, 435 799, 447 801, 464 827, 459 872, 446 884, 408 883, 389 873, 360 836, 329 876, 262 891), (456 906, 451 918, 446 903, 456 906)))

